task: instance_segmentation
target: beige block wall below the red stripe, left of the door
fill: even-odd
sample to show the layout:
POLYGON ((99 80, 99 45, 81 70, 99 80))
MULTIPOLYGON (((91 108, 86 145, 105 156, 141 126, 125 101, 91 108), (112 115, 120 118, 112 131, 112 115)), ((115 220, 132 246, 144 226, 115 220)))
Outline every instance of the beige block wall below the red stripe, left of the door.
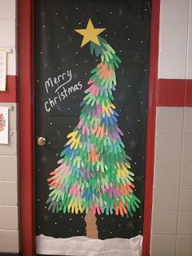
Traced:
POLYGON ((9 111, 9 145, 0 144, 0 252, 19 252, 17 119, 15 103, 9 111))

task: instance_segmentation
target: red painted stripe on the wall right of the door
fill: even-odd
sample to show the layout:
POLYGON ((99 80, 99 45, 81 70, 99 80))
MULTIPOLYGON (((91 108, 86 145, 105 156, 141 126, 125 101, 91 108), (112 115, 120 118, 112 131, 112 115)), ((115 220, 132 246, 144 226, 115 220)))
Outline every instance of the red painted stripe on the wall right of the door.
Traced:
POLYGON ((159 79, 157 106, 192 107, 192 80, 159 79))

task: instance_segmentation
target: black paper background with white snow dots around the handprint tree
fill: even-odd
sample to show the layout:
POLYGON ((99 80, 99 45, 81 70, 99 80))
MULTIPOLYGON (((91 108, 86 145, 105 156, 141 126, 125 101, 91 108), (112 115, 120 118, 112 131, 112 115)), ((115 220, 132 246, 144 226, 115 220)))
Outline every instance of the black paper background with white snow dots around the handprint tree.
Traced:
POLYGON ((46 179, 57 167, 59 153, 69 132, 79 121, 80 103, 90 71, 98 64, 90 55, 89 44, 81 48, 82 37, 74 29, 85 29, 89 18, 95 28, 122 60, 117 69, 114 93, 118 125, 127 154, 132 158, 136 196, 142 204, 133 218, 97 215, 98 236, 133 237, 142 234, 145 188, 146 121, 149 84, 151 2, 144 0, 37 0, 35 2, 35 113, 36 137, 46 138, 46 146, 36 144, 36 235, 54 237, 85 236, 85 214, 52 214, 47 210, 49 188, 46 179), (82 90, 68 95, 50 112, 45 101, 55 97, 46 93, 45 82, 72 70, 72 81, 81 82, 82 90))

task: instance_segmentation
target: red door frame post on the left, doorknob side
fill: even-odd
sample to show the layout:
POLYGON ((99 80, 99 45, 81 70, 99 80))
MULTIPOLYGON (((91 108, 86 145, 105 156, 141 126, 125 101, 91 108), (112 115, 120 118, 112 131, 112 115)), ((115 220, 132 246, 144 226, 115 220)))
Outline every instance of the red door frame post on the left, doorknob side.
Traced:
POLYGON ((19 0, 19 104, 20 104, 20 250, 35 254, 34 235, 34 100, 33 0, 19 0))

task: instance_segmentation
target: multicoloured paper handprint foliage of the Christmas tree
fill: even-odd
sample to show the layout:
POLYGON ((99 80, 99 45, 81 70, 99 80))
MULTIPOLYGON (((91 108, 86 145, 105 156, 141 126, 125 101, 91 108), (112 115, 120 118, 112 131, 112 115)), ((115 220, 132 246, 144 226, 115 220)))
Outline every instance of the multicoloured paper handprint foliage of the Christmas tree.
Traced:
POLYGON ((89 40, 91 54, 100 55, 101 62, 91 71, 80 121, 48 179, 47 204, 53 213, 133 215, 141 202, 133 193, 134 174, 112 103, 121 61, 105 39, 98 40, 99 45, 89 40))

